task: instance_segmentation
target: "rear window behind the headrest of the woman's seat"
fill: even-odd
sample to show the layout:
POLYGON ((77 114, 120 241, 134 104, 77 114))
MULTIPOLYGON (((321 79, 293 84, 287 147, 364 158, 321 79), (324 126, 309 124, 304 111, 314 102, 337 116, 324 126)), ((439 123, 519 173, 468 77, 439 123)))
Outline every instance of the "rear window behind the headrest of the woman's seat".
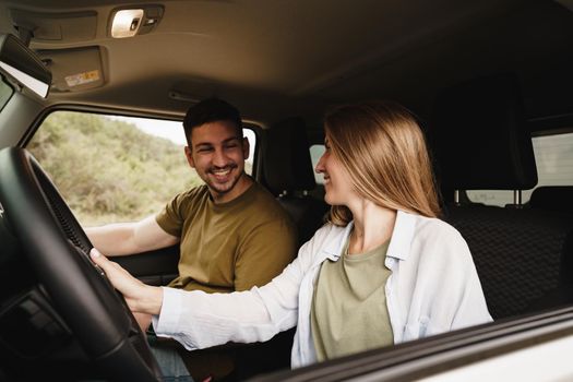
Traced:
MULTIPOLYGON (((533 138, 538 182, 540 186, 573 186, 573 133, 533 138)), ((537 188, 536 187, 536 188, 537 188)), ((532 190, 524 190, 522 201, 529 201, 532 190)), ((512 191, 467 191, 470 201, 503 206, 513 203, 512 191)))

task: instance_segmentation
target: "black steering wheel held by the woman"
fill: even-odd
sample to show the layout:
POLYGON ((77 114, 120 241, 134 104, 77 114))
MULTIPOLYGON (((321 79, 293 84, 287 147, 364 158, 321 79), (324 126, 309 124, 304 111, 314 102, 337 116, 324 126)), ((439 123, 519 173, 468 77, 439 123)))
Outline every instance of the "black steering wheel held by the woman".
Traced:
POLYGON ((98 369, 118 381, 160 380, 126 301, 89 260, 89 239, 24 148, 0 151, 0 204, 52 306, 98 369))

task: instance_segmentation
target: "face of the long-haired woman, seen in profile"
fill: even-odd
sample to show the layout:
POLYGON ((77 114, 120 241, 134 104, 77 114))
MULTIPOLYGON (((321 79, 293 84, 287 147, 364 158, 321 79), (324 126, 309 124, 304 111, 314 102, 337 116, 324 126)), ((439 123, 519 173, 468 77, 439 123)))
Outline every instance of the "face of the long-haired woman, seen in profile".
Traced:
POLYGON ((350 198, 355 195, 350 176, 332 154, 329 136, 324 140, 324 154, 322 154, 317 168, 317 172, 324 176, 324 201, 330 205, 346 205, 350 198))

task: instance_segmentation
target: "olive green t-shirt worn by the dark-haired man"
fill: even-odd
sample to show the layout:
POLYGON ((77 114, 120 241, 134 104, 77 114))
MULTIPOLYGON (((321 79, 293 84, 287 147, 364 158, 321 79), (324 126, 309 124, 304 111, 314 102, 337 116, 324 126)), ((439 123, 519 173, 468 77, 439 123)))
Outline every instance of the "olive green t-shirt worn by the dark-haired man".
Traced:
POLYGON ((156 216, 181 238, 179 276, 169 286, 229 293, 262 286, 296 255, 296 227, 258 182, 230 202, 215 204, 206 186, 175 196, 156 216))

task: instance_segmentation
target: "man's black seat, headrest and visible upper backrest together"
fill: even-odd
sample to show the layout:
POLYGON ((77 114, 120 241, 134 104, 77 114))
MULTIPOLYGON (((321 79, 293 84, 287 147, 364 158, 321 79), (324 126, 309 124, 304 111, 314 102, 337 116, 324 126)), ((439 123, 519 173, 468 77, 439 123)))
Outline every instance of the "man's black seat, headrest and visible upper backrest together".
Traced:
POLYGON ((266 130, 263 162, 264 184, 295 220, 299 243, 307 242, 324 223, 329 206, 308 193, 317 182, 301 118, 286 119, 266 130))

